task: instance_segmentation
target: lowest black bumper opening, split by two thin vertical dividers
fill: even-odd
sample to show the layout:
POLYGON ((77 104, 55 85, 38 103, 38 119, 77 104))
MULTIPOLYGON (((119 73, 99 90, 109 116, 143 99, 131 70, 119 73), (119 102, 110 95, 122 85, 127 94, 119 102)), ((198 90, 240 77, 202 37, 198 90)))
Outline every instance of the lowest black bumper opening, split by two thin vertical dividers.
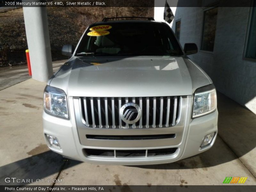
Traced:
POLYGON ((151 157, 172 155, 178 148, 148 149, 148 150, 105 150, 105 149, 84 149, 87 156, 102 157, 151 157), (115 153, 116 152, 116 153, 115 153))

